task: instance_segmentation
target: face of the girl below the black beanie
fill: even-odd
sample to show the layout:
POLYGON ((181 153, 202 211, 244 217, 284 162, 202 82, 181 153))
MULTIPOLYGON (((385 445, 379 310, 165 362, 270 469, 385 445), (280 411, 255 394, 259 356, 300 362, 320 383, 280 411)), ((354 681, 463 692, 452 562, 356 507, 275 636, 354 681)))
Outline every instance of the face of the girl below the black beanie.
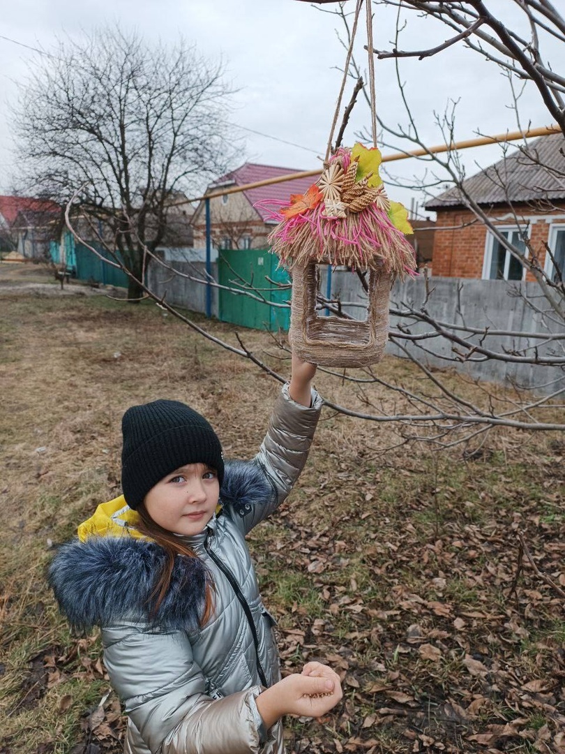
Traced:
POLYGON ((206 464, 187 464, 167 474, 145 495, 145 510, 168 532, 200 534, 218 505, 220 486, 206 464))

